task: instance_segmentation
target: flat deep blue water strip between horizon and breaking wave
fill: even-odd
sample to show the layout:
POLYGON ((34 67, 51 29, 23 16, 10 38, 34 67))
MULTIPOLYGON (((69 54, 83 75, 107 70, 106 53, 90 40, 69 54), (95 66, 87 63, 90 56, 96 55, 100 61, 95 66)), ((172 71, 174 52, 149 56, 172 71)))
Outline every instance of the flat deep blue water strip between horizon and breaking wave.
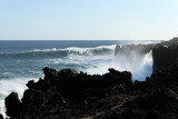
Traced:
POLYGON ((69 47, 93 48, 98 46, 117 44, 117 40, 1 40, 0 52, 19 52, 34 49, 63 49, 69 47))

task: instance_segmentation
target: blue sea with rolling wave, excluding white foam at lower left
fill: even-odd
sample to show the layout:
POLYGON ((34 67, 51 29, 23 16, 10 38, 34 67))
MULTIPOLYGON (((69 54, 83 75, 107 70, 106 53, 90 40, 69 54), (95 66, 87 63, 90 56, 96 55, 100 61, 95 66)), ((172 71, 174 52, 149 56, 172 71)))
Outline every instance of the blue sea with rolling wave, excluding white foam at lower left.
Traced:
POLYGON ((113 44, 118 42, 115 40, 0 41, 0 80, 40 77, 41 69, 46 66, 57 69, 87 69, 90 63, 101 60, 93 57, 112 54, 113 44))

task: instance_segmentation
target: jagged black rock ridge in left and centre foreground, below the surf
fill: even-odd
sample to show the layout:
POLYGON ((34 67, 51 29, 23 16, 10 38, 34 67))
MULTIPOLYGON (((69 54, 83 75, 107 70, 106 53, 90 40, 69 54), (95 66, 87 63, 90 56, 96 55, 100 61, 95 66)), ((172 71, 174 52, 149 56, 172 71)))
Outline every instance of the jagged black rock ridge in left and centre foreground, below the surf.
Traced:
MULTIPOLYGON (((11 118, 69 118, 92 116, 103 109, 101 99, 126 91, 131 87, 131 73, 108 69, 102 76, 78 73, 71 69, 57 71, 43 68, 44 78, 27 83, 21 101, 16 92, 6 98, 7 116, 11 118), (127 87, 127 88, 123 88, 127 87), (117 90, 115 90, 115 88, 117 90)), ((109 101, 109 100, 108 100, 109 101)))

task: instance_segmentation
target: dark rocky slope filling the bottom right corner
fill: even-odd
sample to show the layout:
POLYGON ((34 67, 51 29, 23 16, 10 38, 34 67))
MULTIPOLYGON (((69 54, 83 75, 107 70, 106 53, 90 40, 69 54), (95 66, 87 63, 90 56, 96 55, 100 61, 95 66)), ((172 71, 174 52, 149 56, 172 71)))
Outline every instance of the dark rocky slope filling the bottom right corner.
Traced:
POLYGON ((135 81, 131 95, 99 118, 107 119, 177 119, 178 65, 167 72, 155 72, 146 81, 135 81), (169 75, 168 75, 169 73, 169 75), (166 79, 165 79, 166 78, 166 79))

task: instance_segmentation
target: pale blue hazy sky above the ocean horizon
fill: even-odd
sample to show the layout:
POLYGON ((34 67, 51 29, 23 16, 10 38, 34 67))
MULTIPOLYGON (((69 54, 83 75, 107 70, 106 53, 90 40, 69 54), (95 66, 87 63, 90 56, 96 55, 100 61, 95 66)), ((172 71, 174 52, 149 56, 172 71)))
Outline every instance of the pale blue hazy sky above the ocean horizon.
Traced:
POLYGON ((178 0, 0 0, 0 40, 167 40, 178 0))

